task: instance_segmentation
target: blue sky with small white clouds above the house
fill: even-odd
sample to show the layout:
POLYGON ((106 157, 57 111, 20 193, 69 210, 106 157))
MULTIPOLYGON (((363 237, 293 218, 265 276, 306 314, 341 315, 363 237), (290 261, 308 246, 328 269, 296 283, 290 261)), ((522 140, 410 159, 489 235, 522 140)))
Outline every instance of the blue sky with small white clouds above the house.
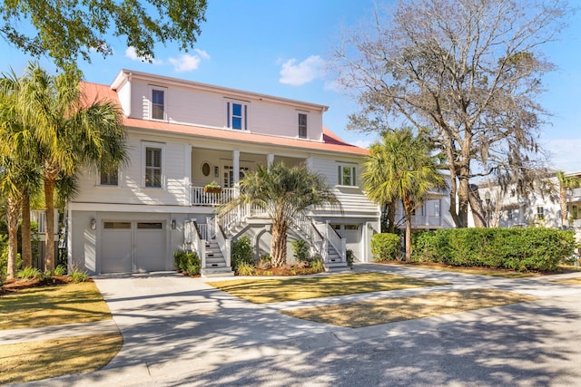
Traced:
MULTIPOLYGON (((211 1, 196 49, 182 53, 174 44, 156 47, 155 63, 142 63, 121 40, 112 40, 114 55, 80 63, 86 81, 110 84, 122 69, 183 78, 250 92, 328 105, 324 124, 344 140, 366 147, 371 135, 346 131, 347 115, 357 105, 331 87, 324 73, 341 32, 369 17, 373 0, 219 0, 211 1)), ((552 167, 581 171, 581 15, 570 16, 561 40, 545 52, 557 69, 544 79, 540 102, 553 114, 543 127, 541 143, 552 155, 552 167)), ((0 71, 22 73, 29 59, 0 40, 0 71)), ((41 59, 46 68, 50 61, 41 59)), ((54 68, 54 67, 53 67, 54 68)))

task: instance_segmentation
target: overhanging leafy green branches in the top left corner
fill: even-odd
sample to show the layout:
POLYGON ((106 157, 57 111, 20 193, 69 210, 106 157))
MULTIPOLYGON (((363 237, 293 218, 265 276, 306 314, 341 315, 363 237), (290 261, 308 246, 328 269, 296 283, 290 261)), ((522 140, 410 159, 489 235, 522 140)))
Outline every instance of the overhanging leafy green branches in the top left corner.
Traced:
POLYGON ((90 62, 92 52, 113 53, 109 41, 124 38, 152 60, 154 44, 193 47, 205 21, 206 0, 6 0, 0 5, 0 36, 33 56, 47 54, 59 67, 90 62))

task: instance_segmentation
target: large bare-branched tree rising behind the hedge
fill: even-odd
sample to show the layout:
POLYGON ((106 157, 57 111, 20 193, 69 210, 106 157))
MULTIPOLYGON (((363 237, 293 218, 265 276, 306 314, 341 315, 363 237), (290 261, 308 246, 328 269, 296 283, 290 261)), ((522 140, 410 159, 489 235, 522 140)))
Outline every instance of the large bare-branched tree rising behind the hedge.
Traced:
POLYGON ((468 227, 472 179, 525 189, 538 167, 547 111, 537 98, 553 69, 541 48, 565 14, 560 0, 409 0, 385 20, 376 12, 335 53, 338 81, 360 105, 350 127, 428 128, 448 158, 451 216, 468 227))

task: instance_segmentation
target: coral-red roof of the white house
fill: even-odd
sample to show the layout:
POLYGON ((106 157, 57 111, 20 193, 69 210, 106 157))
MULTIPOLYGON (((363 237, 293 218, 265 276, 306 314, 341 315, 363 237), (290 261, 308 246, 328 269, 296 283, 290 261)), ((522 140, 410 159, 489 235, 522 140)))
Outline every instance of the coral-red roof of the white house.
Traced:
MULTIPOLYGON (((82 90, 86 102, 91 103, 99 100, 111 100, 120 105, 117 92, 111 87, 99 83, 82 82, 82 90)), ((271 136, 267 134, 251 133, 248 131, 232 131, 229 129, 208 128, 182 123, 140 120, 125 117, 123 124, 128 128, 144 129, 147 131, 160 131, 166 133, 182 134, 193 137, 203 137, 220 140, 235 140, 254 144, 274 145, 281 147, 297 148, 301 150, 320 150, 350 153, 357 155, 367 155, 369 150, 350 145, 341 140, 335 133, 323 127, 323 140, 310 141, 291 139, 286 137, 271 136)))

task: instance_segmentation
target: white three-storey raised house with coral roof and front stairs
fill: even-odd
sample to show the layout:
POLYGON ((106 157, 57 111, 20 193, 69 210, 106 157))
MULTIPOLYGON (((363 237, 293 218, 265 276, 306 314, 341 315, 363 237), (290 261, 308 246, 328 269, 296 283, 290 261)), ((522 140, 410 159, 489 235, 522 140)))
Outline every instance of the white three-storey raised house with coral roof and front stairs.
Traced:
POLYGON ((229 274, 231 241, 241 235, 255 256, 269 253, 270 221, 257 208, 217 218, 216 206, 238 194, 244 171, 280 161, 324 175, 342 204, 295 219, 290 240, 308 240, 328 267, 345 265, 346 248, 371 259, 379 208, 359 180, 368 151, 323 127, 326 106, 127 70, 111 86, 83 88, 88 101, 123 109, 130 162, 81 174, 67 207, 69 264, 91 274, 172 270, 172 253, 191 249, 203 275, 229 274), (220 193, 204 191, 212 181, 220 193))

